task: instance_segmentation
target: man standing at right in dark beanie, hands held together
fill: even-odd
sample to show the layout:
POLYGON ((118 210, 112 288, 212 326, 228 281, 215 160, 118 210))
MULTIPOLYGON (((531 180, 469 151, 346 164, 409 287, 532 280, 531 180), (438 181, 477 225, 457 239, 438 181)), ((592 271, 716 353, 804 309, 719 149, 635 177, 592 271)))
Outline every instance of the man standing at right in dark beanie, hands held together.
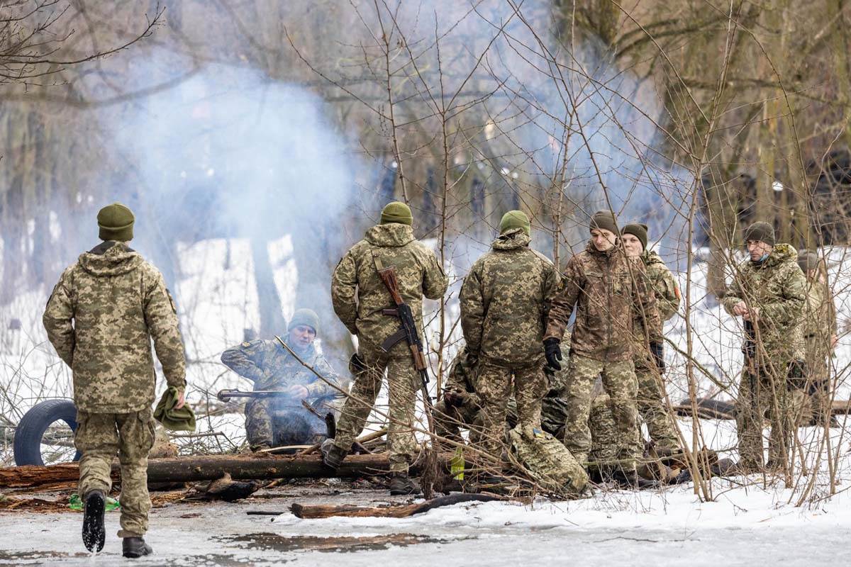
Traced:
POLYGON ((754 223, 745 230, 750 258, 739 265, 722 298, 730 315, 745 324, 745 366, 736 400, 739 470, 762 470, 762 419, 771 419, 768 468, 785 470, 794 434, 796 398, 792 382, 805 376, 802 325, 807 281, 797 265, 797 252, 774 243, 774 227, 754 223))

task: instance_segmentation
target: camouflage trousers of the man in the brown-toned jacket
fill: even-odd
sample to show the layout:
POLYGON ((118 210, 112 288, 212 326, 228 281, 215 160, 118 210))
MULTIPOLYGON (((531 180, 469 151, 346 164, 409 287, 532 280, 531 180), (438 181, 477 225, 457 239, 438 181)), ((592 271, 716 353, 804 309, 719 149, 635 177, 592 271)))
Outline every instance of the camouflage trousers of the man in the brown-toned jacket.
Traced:
POLYGON ((591 391, 597 375, 603 377, 603 389, 614 417, 617 432, 617 459, 626 471, 635 470, 641 454, 638 442, 637 379, 632 360, 604 362, 580 354, 570 356, 570 377, 566 399, 568 420, 564 427, 564 445, 584 463, 591 452, 591 391))

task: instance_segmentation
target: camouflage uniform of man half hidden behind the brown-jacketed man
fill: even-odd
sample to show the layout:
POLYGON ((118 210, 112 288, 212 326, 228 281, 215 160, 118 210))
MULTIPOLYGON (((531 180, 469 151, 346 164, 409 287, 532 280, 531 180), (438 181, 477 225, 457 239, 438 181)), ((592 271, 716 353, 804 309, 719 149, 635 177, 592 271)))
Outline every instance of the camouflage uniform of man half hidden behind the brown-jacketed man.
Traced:
MULTIPOLYGON (((645 251, 641 255, 645 267, 648 289, 654 292, 656 298, 656 309, 659 310, 660 328, 655 334, 662 336, 661 324, 671 319, 680 306, 680 292, 677 289, 677 281, 671 274, 671 270, 665 266, 665 262, 659 254, 645 251)), ((674 430, 674 417, 665 405, 665 382, 659 373, 653 355, 648 350, 647 334, 644 330, 643 317, 636 317, 633 337, 636 342, 633 345, 635 354, 633 363, 636 367, 638 380, 637 407, 638 416, 647 425, 650 439, 657 447, 677 449, 680 445, 677 432, 674 430)))

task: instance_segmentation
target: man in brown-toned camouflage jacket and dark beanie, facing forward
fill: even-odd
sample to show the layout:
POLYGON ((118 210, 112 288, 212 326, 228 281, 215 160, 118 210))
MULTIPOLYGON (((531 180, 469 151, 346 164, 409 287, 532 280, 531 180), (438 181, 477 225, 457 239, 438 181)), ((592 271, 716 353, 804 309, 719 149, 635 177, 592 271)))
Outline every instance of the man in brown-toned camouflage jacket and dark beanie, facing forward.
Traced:
POLYGON ((568 261, 563 290, 552 302, 544 339, 546 360, 552 368, 561 369, 559 343, 575 307, 570 379, 565 393, 565 445, 577 461, 587 462, 591 451, 591 388, 602 372, 620 439, 620 464, 613 479, 624 485, 641 485, 636 476, 638 386, 632 364, 631 332, 633 320, 646 317, 649 342, 660 343, 659 313, 654 295, 647 289, 643 265, 626 258, 614 214, 594 213, 589 230, 588 247, 568 261))

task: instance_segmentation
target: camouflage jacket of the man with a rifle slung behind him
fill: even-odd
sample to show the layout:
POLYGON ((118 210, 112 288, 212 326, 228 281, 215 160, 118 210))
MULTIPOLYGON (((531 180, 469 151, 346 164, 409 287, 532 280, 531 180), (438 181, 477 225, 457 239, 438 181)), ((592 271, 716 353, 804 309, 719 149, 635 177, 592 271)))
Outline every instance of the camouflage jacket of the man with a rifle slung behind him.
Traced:
MULTIPOLYGON (((448 281, 434 252, 414 240, 407 224, 377 224, 362 241, 346 252, 331 276, 334 313, 367 348, 380 344, 399 330, 399 320, 381 309, 393 307, 390 292, 381 282, 376 260, 385 268, 396 267, 399 291, 414 312, 422 332, 422 298, 443 298, 448 281)), ((420 336, 425 340, 425 337, 420 336)), ((399 343, 397 353, 408 352, 399 343)))

